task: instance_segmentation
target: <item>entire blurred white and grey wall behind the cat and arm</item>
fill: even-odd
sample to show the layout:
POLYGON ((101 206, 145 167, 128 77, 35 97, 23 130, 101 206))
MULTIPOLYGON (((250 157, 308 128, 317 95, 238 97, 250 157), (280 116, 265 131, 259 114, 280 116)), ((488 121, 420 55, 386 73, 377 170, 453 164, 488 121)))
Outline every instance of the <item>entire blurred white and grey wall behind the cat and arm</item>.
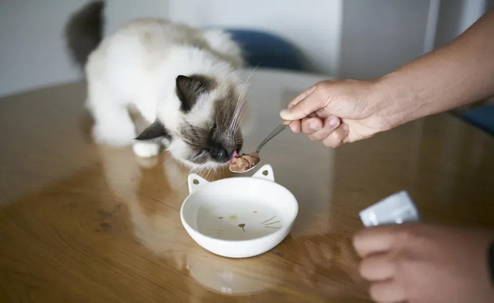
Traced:
MULTIPOLYGON (((0 96, 78 78, 62 30, 87 1, 0 0, 0 96)), ((107 0, 106 32, 145 16, 265 29, 299 47, 315 72, 366 78, 420 56, 434 39, 437 46, 454 38, 487 0, 442 0, 432 16, 431 1, 439 0, 107 0)))

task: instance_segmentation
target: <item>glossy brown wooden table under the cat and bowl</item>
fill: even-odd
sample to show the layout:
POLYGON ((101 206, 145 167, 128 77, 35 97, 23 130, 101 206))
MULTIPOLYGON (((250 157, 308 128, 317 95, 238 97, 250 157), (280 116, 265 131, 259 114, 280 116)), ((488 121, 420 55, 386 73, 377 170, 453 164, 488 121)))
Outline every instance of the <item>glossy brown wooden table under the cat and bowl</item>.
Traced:
MULTIPOLYGON (((256 71, 244 150, 320 79, 256 71)), ((262 158, 298 198, 293 232, 222 258, 180 222, 186 169, 92 144, 84 95, 74 83, 0 100, 1 302, 367 302, 350 241, 363 208, 406 189, 424 221, 494 226, 494 139, 450 115, 337 149, 285 131, 262 158)))

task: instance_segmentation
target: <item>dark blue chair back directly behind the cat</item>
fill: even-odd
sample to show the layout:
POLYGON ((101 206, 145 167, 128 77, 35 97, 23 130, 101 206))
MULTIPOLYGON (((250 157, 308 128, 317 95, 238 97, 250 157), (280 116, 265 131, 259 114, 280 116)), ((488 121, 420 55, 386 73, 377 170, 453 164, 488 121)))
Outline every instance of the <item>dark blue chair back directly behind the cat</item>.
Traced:
POLYGON ((250 66, 303 71, 297 49, 274 34, 256 30, 225 29, 240 46, 250 66))

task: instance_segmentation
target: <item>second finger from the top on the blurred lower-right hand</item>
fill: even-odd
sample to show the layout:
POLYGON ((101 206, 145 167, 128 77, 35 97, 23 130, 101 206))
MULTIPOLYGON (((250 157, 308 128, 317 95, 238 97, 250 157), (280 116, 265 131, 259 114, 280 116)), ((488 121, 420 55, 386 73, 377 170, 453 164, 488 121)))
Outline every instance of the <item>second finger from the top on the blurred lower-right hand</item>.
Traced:
POLYGON ((365 280, 383 281, 394 277, 395 267, 388 254, 374 254, 360 262, 359 273, 365 280))

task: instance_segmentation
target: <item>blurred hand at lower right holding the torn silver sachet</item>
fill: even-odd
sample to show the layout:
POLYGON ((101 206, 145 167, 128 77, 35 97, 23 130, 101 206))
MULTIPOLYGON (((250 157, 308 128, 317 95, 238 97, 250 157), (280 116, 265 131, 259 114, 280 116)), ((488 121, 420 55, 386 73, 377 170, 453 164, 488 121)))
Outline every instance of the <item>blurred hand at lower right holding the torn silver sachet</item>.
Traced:
POLYGON ((494 302, 493 239, 492 231, 401 224, 366 228, 353 243, 376 302, 487 303, 494 302))

